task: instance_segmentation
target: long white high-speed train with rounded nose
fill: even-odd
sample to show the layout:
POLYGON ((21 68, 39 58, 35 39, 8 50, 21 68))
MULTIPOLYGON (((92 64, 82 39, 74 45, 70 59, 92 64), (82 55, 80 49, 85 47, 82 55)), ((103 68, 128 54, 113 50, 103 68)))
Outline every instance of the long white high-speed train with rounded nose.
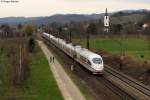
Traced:
POLYGON ((100 55, 81 46, 73 46, 71 43, 66 43, 63 39, 56 38, 48 33, 42 33, 42 37, 61 49, 71 58, 74 58, 93 74, 103 74, 104 64, 100 55))

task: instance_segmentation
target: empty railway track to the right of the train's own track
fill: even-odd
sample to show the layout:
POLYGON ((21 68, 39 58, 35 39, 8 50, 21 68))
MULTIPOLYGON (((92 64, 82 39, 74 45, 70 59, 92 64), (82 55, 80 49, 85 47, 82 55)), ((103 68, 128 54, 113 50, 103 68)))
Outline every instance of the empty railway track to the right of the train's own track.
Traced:
MULTIPOLYGON (((124 86, 127 88, 123 88, 120 86, 120 88, 124 89, 128 95, 132 96, 136 100, 150 100, 150 87, 146 86, 139 81, 111 68, 110 66, 105 65, 105 72, 108 73, 109 75, 119 79, 124 86)), ((106 78, 109 81, 112 81, 110 77, 106 76, 106 78)), ((117 84, 117 82, 114 82, 117 84)), ((121 84, 121 83, 120 83, 121 84)), ((118 84, 119 85, 119 84, 118 84)))

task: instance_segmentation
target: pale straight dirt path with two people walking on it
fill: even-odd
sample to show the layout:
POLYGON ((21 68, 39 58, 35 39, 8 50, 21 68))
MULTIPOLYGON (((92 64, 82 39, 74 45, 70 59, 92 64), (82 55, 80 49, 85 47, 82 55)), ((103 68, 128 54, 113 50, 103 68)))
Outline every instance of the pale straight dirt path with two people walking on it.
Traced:
POLYGON ((57 84, 61 90, 61 93, 65 100, 85 100, 84 96, 81 94, 77 86, 72 82, 72 80, 65 73, 63 67, 55 59, 54 63, 50 63, 50 56, 53 54, 48 50, 46 45, 42 41, 38 41, 39 46, 44 52, 46 58, 49 61, 50 69, 54 74, 57 84))

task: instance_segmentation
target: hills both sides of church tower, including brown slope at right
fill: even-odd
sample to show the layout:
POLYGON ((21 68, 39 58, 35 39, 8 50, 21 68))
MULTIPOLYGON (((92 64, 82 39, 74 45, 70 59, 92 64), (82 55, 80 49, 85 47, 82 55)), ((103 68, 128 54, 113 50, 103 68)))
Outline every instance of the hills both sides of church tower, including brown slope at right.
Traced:
MULTIPOLYGON (((149 10, 122 10, 118 12, 109 13, 111 16, 111 23, 125 23, 137 22, 145 18, 149 14, 149 10)), ((0 24, 19 24, 19 23, 33 23, 33 24, 48 24, 48 23, 69 23, 81 21, 103 20, 104 13, 101 14, 57 14, 47 17, 6 17, 0 18, 0 24)))

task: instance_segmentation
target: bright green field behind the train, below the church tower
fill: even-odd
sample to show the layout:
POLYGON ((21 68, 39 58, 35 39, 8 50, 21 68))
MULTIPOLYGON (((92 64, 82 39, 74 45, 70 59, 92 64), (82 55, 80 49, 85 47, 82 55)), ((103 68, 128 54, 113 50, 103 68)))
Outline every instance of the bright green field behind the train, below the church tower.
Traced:
MULTIPOLYGON (((80 41, 80 44, 86 47, 86 40, 80 41)), ((100 38, 90 40, 91 49, 102 49, 112 54, 120 54, 121 50, 123 50, 126 54, 138 58, 144 55, 145 59, 150 59, 150 50, 148 50, 148 46, 149 44, 144 37, 116 37, 115 39, 100 38), (121 43, 121 46, 118 41, 121 43)))

